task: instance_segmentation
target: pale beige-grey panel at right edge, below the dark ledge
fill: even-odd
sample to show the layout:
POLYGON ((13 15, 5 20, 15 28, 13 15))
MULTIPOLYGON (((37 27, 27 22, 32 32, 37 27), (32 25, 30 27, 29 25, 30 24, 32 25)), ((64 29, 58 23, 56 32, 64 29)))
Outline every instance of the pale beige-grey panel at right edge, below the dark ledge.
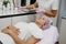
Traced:
POLYGON ((66 44, 66 20, 62 20, 59 31, 59 44, 66 44))

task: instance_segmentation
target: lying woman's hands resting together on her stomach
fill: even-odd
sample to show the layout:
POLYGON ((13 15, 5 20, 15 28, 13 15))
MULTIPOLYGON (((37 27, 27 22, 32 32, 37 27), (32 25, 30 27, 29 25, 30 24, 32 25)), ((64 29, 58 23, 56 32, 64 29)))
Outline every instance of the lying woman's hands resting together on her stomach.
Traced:
POLYGON ((8 28, 3 29, 2 32, 7 34, 15 34, 15 35, 19 35, 20 33, 19 29, 16 29, 13 25, 9 25, 8 28))

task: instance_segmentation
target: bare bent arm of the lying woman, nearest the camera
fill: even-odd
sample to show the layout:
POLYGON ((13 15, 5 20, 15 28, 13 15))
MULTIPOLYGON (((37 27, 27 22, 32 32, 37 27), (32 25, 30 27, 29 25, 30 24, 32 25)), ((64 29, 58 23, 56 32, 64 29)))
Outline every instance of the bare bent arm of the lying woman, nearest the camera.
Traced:
POLYGON ((19 38, 18 35, 15 35, 14 33, 11 33, 10 35, 16 44, 35 44, 38 41, 34 36, 32 36, 28 42, 24 42, 21 38, 19 38))

